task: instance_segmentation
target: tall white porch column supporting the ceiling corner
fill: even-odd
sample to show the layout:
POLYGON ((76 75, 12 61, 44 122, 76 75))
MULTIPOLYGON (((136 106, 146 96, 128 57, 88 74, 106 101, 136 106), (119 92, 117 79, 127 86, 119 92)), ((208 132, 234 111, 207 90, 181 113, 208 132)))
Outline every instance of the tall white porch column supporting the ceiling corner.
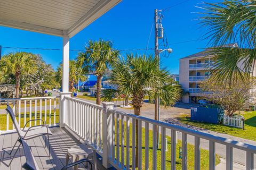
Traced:
POLYGON ((62 91, 60 92, 60 127, 63 128, 66 122, 66 101, 65 97, 70 97, 69 92, 69 37, 63 35, 62 53, 62 91))

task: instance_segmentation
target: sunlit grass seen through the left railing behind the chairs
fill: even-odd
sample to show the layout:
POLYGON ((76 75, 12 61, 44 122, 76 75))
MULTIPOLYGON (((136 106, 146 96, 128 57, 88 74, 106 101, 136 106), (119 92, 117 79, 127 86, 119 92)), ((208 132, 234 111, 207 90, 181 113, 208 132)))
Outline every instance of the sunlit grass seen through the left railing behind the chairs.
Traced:
MULTIPOLYGON (((46 124, 50 124, 49 123, 49 111, 47 111, 47 118, 46 118, 46 124)), ((4 131, 6 130, 6 114, 1 114, 0 115, 0 130, 4 131)), ((35 119, 35 112, 32 112, 31 114, 31 119, 35 119)), ((37 112, 37 118, 40 118, 39 116, 39 112, 37 112)), ((51 123, 53 124, 54 122, 54 109, 52 109, 52 112, 51 112, 51 123)), ((17 121, 19 120, 19 117, 16 116, 16 119, 17 121)), ((24 126, 24 113, 21 113, 20 115, 20 126, 23 128, 24 126)), ((27 112, 26 114, 26 121, 29 120, 29 112, 27 112)), ((44 111, 42 111, 42 120, 44 121, 44 111)), ((56 109, 56 123, 59 123, 59 109, 56 109)), ((39 121, 37 121, 37 125, 39 124, 39 121)), ((32 125, 35 125, 35 122, 32 122, 32 125)), ((29 123, 27 125, 27 127, 29 126, 29 123)), ((11 120, 11 117, 9 116, 9 130, 12 129, 12 120, 11 120)))

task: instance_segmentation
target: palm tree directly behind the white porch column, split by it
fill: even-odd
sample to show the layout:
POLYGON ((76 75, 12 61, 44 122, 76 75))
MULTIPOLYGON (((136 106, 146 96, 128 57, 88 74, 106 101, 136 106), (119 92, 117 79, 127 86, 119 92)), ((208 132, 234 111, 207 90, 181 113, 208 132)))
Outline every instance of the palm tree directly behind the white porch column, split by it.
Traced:
MULTIPOLYGON (((61 82, 62 80, 62 64, 57 68, 56 74, 57 81, 61 82)), ((78 66, 75 60, 69 61, 69 91, 74 91, 74 84, 78 83, 79 80, 85 81, 87 78, 83 74, 82 68, 78 66)))

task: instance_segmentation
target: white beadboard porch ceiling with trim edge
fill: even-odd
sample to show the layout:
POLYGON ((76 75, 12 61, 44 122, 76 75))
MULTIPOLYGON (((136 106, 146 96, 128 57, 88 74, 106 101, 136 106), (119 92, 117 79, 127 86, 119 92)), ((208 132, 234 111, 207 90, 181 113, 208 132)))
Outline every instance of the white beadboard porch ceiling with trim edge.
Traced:
POLYGON ((73 37, 122 0, 0 0, 0 25, 73 37))

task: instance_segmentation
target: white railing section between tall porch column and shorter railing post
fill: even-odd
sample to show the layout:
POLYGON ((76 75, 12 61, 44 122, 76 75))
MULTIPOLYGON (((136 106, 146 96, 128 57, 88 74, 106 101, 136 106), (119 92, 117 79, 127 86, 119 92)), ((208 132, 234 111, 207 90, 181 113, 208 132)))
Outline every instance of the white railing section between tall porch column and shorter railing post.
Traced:
POLYGON ((102 111, 103 107, 76 98, 65 97, 65 125, 82 140, 102 153, 102 111))

